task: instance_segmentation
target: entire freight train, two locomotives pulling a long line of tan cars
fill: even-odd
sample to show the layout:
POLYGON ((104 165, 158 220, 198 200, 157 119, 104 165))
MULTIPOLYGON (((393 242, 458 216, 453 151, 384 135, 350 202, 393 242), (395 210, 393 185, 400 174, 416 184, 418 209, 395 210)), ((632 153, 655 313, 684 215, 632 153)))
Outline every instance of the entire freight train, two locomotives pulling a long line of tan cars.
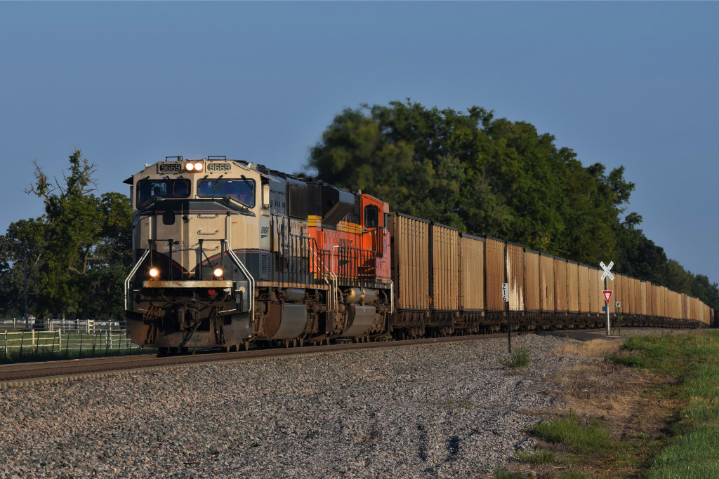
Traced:
MULTIPOLYGON (((366 193, 226 157, 165 157, 125 183, 127 335, 145 347, 469 334, 507 317, 517 330, 605 322, 595 266, 393 212, 366 193)), ((610 286, 623 325, 709 325, 714 315, 621 274, 610 286)))

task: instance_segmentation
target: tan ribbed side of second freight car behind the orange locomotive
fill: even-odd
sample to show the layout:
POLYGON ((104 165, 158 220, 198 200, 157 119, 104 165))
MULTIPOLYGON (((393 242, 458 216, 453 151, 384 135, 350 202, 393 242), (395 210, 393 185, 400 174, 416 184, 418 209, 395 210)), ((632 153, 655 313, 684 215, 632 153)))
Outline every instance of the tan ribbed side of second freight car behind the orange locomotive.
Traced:
POLYGON ((432 225, 432 298, 435 310, 459 309, 459 231, 432 225))

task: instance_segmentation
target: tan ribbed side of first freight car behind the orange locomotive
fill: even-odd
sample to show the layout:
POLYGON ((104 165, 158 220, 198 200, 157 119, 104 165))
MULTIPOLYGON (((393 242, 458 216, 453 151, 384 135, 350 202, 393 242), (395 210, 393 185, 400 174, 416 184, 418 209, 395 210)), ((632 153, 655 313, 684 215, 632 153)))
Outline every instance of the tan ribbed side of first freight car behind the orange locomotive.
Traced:
POLYGON ((392 277, 399 310, 429 310, 429 221, 393 213, 392 277))

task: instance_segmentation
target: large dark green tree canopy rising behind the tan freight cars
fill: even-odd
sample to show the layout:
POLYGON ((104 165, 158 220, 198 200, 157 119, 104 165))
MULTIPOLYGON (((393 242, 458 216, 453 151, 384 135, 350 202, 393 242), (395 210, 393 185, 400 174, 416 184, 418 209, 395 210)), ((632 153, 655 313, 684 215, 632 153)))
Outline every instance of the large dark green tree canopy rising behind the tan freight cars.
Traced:
POLYGON ((585 264, 615 258, 615 271, 667 284, 719 307, 719 288, 644 236, 628 212, 624 167, 585 167, 554 136, 524 121, 393 101, 338 113, 310 149, 306 175, 362 190, 390 208, 505 238, 585 264))

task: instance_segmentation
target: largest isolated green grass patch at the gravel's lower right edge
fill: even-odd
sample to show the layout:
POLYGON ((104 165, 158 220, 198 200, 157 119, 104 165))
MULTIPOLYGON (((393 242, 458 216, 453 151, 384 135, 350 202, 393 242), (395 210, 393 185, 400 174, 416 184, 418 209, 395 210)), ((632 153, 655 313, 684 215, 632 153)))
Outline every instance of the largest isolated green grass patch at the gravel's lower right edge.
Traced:
POLYGON ((534 424, 529 432, 545 442, 563 444, 578 454, 608 450, 612 446, 610 434, 603 424, 596 420, 592 424, 582 424, 571 412, 562 419, 534 424))

